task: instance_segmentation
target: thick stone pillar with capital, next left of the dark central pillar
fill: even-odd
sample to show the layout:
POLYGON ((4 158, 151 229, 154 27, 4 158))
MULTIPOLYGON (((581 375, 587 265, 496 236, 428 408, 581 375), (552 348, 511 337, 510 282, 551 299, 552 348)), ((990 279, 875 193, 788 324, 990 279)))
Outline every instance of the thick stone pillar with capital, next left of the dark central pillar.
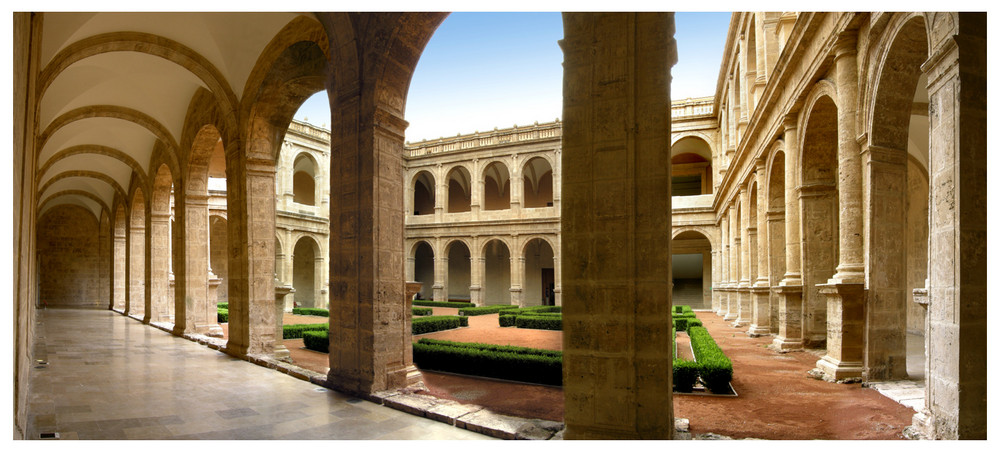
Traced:
MULTIPOLYGON (((332 103, 329 386, 353 394, 408 383, 411 334, 403 279, 403 132, 369 91, 332 103)), ((470 251, 471 252, 471 251, 470 251)), ((445 255, 444 253, 440 255, 445 255)), ((447 263, 447 262, 445 262, 447 263)))

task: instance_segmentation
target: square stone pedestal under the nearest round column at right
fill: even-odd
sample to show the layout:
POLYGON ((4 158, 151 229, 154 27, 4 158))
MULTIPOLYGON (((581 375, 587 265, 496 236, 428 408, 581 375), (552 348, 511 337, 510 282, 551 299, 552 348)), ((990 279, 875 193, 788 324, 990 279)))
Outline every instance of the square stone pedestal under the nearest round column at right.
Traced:
POLYGON ((817 285, 827 297, 826 356, 816 368, 827 380, 861 378, 864 369, 863 283, 828 283, 817 285))

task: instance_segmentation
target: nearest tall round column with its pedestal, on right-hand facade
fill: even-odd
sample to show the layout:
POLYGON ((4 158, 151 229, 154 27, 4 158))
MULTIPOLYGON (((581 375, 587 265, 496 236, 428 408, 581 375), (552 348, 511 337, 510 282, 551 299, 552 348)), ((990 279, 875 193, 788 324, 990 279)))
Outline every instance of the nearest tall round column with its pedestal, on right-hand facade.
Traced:
POLYGON ((855 132, 858 103, 856 33, 853 30, 842 33, 834 48, 840 264, 837 273, 826 284, 819 285, 820 292, 827 295, 826 355, 816 362, 816 367, 831 380, 860 378, 864 351, 864 197, 861 152, 855 132))

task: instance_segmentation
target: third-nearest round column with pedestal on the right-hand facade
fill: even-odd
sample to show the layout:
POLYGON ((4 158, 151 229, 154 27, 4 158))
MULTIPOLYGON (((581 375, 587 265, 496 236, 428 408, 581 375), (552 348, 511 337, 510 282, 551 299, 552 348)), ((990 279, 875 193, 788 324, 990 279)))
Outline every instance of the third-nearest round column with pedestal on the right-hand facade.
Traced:
POLYGON ((757 241, 751 247, 757 248, 757 278, 751 289, 753 316, 748 333, 751 336, 762 336, 771 331, 771 281, 769 277, 771 273, 768 263, 771 253, 767 230, 767 161, 761 158, 757 159, 754 164, 757 193, 750 194, 750 197, 757 198, 757 241))

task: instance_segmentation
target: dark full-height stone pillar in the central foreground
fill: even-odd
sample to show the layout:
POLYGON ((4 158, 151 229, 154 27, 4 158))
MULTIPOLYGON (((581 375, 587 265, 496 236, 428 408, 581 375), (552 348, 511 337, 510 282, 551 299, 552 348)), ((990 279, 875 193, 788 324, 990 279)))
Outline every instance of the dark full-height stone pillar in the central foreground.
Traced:
POLYGON ((673 15, 563 19, 565 437, 669 439, 673 15))

